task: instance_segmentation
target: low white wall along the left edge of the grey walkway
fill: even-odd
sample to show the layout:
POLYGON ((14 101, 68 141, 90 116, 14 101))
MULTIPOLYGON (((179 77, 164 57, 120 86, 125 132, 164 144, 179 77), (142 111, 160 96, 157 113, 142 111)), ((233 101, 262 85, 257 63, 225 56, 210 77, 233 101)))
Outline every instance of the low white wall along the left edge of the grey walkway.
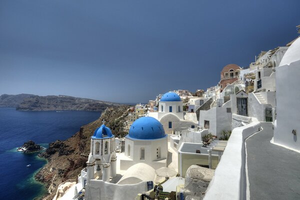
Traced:
POLYGON ((260 130, 259 122, 252 122, 237 127, 227 142, 220 162, 206 190, 204 200, 214 199, 245 199, 245 139, 260 130))

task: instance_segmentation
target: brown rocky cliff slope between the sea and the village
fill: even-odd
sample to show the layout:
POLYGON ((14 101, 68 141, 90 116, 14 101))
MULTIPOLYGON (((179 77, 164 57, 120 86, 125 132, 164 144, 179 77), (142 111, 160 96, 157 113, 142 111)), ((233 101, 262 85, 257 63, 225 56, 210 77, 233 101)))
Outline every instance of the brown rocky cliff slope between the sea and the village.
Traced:
POLYGON ((106 108, 100 118, 80 127, 80 130, 70 138, 56 140, 49 144, 49 148, 40 153, 48 159, 48 163, 35 175, 35 178, 44 182, 48 188, 46 199, 52 199, 58 185, 67 179, 77 179, 80 170, 84 168, 90 149, 90 136, 105 120, 112 133, 118 136, 122 131, 123 122, 129 106, 120 105, 106 108))

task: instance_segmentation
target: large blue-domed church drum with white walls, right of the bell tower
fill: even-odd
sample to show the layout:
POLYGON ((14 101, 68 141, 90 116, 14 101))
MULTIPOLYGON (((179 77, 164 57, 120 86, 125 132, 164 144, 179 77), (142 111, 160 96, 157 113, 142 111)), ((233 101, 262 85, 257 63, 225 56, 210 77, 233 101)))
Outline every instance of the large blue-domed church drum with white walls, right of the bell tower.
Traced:
POLYGON ((125 157, 120 169, 126 170, 136 163, 146 163, 154 169, 166 166, 167 135, 161 123, 150 116, 135 120, 125 136, 125 157))

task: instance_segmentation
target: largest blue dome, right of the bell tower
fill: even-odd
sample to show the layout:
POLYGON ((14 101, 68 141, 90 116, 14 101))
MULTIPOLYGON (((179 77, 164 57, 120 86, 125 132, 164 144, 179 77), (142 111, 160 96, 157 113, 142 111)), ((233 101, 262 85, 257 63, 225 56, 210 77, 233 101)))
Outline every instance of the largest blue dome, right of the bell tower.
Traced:
POLYGON ((159 139, 165 137, 161 123, 150 116, 144 116, 135 120, 126 137, 131 139, 159 139))

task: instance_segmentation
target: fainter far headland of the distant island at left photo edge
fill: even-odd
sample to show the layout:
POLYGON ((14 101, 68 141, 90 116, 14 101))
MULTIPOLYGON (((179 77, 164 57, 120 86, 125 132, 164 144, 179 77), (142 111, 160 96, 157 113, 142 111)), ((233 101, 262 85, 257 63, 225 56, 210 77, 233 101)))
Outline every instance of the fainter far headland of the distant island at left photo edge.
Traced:
POLYGON ((30 96, 35 96, 34 94, 2 94, 0 95, 0 107, 16 107, 18 106, 25 98, 30 96))

